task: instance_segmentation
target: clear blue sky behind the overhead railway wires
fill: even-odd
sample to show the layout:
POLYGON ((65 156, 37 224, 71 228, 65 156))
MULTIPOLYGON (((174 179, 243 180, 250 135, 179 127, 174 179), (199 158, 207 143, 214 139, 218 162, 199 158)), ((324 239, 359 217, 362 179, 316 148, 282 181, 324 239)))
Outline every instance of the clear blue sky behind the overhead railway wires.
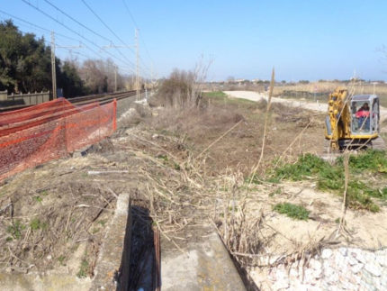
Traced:
MULTIPOLYGON (((97 46, 108 41, 88 32, 53 9, 44 0, 26 0, 49 13, 58 22, 92 40, 97 46)), ((380 49, 387 45, 387 1, 385 0, 316 0, 316 1, 131 1, 124 0, 134 16, 140 33, 143 74, 150 76, 153 60, 158 77, 173 68, 191 69, 204 58, 212 60, 209 80, 269 78, 275 67, 276 79, 347 79, 354 75, 365 79, 387 80, 387 60, 380 49)), ((82 0, 49 0, 95 32, 121 41, 92 14, 82 0)), ((135 24, 123 0, 85 0, 96 14, 127 45, 134 44, 135 24)), ((81 38, 40 14, 22 0, 0 0, 0 10, 14 14, 46 29, 81 38)), ((9 16, 0 13, 0 19, 9 16)), ((15 20, 23 32, 45 35, 28 24, 15 20)), ((86 48, 72 50, 82 60, 107 58, 103 50, 85 40, 96 54, 86 48), (82 55, 77 55, 81 53, 82 55)), ((76 46, 79 41, 57 35, 62 46, 76 46)), ((108 49, 122 72, 134 69, 135 54, 129 49, 108 49), (124 55, 125 59, 118 52, 124 55)), ((67 49, 58 49, 66 59, 67 49)))

